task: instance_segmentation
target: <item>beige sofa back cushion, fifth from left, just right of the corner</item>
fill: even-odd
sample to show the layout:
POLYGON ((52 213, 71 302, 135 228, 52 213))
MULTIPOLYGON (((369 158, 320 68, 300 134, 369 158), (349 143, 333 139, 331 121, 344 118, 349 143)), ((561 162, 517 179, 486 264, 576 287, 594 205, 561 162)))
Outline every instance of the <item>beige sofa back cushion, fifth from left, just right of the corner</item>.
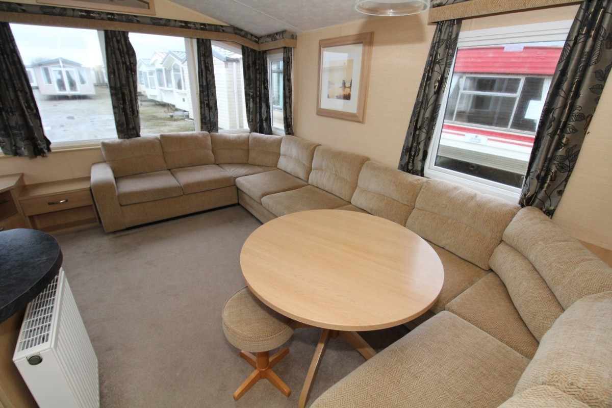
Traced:
POLYGON ((307 182, 317 146, 320 145, 296 136, 285 136, 280 144, 277 167, 307 182))

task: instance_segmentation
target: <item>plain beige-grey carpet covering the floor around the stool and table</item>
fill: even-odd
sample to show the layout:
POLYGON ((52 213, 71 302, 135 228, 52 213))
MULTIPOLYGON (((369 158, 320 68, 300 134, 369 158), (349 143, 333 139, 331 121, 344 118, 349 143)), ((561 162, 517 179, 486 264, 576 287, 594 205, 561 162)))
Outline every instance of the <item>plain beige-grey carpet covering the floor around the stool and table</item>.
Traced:
MULTIPOLYGON (((99 360, 102 408, 296 407, 319 330, 299 329, 275 372, 286 398, 261 380, 239 401, 252 372, 223 335, 221 309, 244 287, 239 254, 261 223, 240 206, 105 234, 58 236, 64 270, 99 360)), ((362 333, 381 349, 405 328, 362 333)), ((332 340, 310 401, 364 362, 332 340)))

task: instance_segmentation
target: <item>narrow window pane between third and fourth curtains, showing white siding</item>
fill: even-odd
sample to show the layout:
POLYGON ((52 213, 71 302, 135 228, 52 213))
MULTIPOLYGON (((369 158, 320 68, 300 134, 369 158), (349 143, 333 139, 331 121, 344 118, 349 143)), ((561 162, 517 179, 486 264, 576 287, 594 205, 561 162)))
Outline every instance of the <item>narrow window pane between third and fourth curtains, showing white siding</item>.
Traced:
POLYGON ((217 89, 219 130, 247 130, 247 108, 242 80, 242 50, 213 42, 212 64, 217 89))

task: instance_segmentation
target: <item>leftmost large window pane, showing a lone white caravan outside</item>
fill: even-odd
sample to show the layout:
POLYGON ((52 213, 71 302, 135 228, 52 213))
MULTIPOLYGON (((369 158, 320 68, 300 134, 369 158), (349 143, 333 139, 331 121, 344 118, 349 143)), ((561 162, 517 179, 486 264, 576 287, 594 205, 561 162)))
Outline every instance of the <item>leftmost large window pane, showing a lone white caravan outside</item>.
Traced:
POLYGON ((94 80, 95 72, 105 72, 98 32, 13 23, 10 28, 38 84, 32 92, 53 146, 116 138, 108 87, 94 80))

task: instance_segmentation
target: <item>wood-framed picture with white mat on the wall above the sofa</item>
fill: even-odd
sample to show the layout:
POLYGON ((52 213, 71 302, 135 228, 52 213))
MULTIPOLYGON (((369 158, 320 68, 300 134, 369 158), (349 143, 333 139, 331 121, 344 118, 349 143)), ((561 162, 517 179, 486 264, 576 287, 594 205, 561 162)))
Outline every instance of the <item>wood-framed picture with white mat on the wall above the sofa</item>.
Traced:
POLYGON ((364 122, 372 32, 319 41, 316 114, 364 122))

